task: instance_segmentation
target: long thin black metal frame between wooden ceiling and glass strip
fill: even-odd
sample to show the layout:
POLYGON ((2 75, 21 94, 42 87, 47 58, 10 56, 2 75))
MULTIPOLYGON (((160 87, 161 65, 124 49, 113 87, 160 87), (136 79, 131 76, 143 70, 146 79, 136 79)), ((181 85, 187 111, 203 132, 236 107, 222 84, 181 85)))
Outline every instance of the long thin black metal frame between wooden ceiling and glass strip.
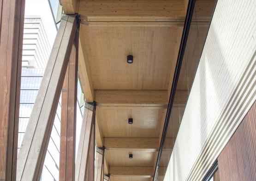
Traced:
POLYGON ((166 114, 166 118, 165 118, 163 134, 161 137, 161 144, 160 144, 159 152, 158 152, 158 156, 157 156, 157 162, 155 165, 153 181, 155 181, 156 172, 159 167, 160 158, 161 158, 161 154, 162 154, 162 150, 163 150, 163 145, 164 145, 164 141, 166 138, 167 128, 168 128, 168 124, 169 124, 169 120, 170 120, 170 116, 171 116, 171 112, 172 112, 173 100, 174 100, 174 96, 175 96, 175 92, 176 92, 176 88, 177 88, 177 84, 178 84, 178 80, 179 80, 179 73, 180 73, 182 60, 183 60, 183 56, 184 56, 184 52, 185 52, 185 48, 186 48, 186 44, 187 44, 187 39, 188 39, 191 20, 192 20, 192 16, 193 16, 194 7, 195 7, 195 2, 196 2, 196 0, 190 0, 189 4, 188 4, 188 8, 187 8, 185 24, 184 24, 181 43, 180 43, 180 47, 179 47, 177 64, 176 64, 175 72, 174 72, 174 76, 173 76, 173 85, 172 85, 169 103, 168 103, 168 107, 167 107, 167 114, 166 114))

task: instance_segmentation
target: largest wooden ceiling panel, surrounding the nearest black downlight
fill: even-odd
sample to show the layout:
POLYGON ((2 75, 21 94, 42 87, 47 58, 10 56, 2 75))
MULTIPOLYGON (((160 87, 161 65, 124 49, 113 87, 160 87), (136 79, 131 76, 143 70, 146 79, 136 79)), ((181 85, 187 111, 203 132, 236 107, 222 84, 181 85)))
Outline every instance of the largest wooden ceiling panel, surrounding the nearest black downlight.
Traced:
POLYGON ((182 27, 88 27, 81 25, 84 61, 94 89, 167 90, 170 68, 177 61, 173 47, 182 27), (114 53, 113 53, 114 52, 114 53), (128 64, 126 56, 134 62, 128 64))

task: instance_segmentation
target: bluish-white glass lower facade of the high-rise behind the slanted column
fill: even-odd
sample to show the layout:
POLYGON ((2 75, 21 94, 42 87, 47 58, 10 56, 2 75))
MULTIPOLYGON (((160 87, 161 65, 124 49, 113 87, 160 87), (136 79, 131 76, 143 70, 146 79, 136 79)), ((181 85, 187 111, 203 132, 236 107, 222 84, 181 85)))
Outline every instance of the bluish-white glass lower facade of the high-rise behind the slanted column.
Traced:
MULTIPOLYGON (((42 81, 43 73, 44 69, 26 67, 22 68, 18 151, 20 149, 23 136, 25 134, 25 130, 30 119, 30 114, 36 100, 36 95, 42 81)), ((42 181, 56 181, 59 179, 60 109, 61 105, 59 102, 42 171, 42 181)))

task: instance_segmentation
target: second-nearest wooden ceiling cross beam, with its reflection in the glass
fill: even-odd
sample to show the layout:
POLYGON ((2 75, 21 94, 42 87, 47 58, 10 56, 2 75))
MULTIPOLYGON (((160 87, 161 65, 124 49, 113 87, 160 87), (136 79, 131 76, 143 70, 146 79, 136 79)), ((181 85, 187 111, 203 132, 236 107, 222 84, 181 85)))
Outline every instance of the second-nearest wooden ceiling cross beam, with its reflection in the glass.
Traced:
MULTIPOLYGON (((99 107, 167 108, 167 90, 95 90, 99 107)), ((185 106, 187 91, 177 90, 173 106, 185 106)))

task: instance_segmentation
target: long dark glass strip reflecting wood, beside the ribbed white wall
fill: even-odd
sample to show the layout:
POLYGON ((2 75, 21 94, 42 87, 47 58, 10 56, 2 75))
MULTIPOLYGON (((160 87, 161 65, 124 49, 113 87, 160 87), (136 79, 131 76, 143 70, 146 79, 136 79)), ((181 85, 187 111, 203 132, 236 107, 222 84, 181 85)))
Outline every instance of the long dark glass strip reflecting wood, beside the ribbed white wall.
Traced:
POLYGON ((171 115, 168 120, 165 141, 159 160, 159 165, 155 170, 155 180, 163 181, 167 166, 172 154, 175 139, 185 111, 186 102, 190 94, 193 79, 201 57, 202 49, 211 18, 214 12, 216 0, 207 1, 207 6, 202 6, 202 1, 196 0, 188 39, 185 47, 184 57, 180 69, 177 88, 175 90, 174 101, 171 107, 171 115), (207 14, 202 14, 202 8, 207 8, 207 14))

